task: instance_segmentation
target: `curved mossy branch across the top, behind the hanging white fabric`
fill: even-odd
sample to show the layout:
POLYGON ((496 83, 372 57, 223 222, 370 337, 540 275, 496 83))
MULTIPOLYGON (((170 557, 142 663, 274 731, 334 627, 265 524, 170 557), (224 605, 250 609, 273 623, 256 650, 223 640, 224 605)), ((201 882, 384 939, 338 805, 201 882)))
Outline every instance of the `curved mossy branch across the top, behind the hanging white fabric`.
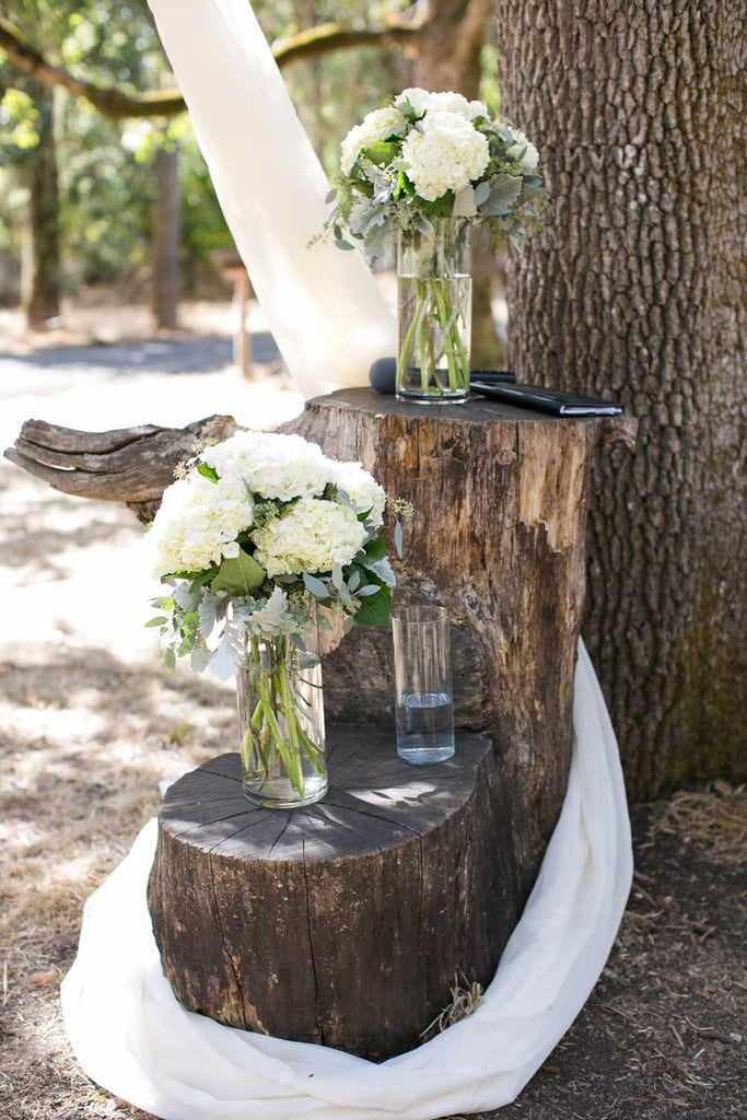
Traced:
MULTIPOLYGON (((417 44, 424 32, 426 22, 392 22, 383 27, 355 27, 352 24, 324 24, 298 35, 288 36, 277 43, 272 53, 282 69, 301 58, 311 58, 332 50, 349 50, 354 47, 390 47, 396 44, 417 44)), ((0 16, 0 49, 25 74, 47 85, 59 85, 76 97, 84 97, 102 116, 109 120, 124 120, 134 116, 176 116, 186 110, 184 97, 178 90, 155 93, 127 93, 116 86, 99 85, 77 77, 64 66, 56 66, 9 20, 0 16)))

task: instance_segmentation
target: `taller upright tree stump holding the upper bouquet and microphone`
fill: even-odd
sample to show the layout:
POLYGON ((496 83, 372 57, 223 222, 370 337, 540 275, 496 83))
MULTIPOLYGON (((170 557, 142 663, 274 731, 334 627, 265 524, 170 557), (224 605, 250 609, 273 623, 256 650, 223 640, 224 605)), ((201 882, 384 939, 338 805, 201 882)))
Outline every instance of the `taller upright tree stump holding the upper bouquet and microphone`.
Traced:
MULTIPOLYGON (((515 922, 566 794, 594 454, 633 442, 635 421, 555 419, 483 399, 423 407, 349 389, 308 401, 281 430, 361 459, 415 506, 400 594, 451 616, 457 725, 487 732, 501 760, 498 850, 515 922)), ((389 633, 354 629, 324 672, 332 713, 392 718, 389 633)))

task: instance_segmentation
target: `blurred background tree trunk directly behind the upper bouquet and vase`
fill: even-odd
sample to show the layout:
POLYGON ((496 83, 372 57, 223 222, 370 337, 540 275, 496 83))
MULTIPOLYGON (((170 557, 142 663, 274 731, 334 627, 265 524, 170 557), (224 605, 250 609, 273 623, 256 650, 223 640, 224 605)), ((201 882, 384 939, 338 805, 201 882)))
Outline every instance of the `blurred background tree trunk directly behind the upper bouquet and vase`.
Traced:
MULTIPOLYGON (((428 34, 420 41, 415 83, 427 90, 479 95, 480 54, 491 15, 489 0, 431 0, 428 34)), ((493 323, 495 253, 491 239, 473 236, 473 366, 489 368, 503 357, 493 323)))

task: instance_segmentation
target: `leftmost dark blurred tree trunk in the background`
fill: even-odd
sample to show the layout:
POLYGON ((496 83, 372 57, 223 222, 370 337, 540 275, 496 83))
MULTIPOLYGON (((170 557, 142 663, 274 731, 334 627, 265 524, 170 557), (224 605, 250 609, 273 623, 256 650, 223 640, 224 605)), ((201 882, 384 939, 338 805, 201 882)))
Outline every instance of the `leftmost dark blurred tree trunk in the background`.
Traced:
POLYGON ((59 316, 59 192, 55 148, 54 91, 28 80, 25 88, 39 114, 39 142, 28 164, 28 225, 21 267, 21 304, 26 321, 44 329, 59 316))

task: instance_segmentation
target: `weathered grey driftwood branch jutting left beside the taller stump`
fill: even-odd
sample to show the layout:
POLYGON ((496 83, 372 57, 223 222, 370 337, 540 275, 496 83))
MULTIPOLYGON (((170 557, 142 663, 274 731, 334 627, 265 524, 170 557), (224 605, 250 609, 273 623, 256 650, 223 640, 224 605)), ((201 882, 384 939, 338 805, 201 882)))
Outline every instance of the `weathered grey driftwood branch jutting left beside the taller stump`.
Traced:
POLYGON ((227 439, 233 417, 213 416, 186 428, 121 428, 91 432, 27 420, 6 458, 64 494, 124 502, 143 522, 152 521, 174 469, 196 442, 227 439))

